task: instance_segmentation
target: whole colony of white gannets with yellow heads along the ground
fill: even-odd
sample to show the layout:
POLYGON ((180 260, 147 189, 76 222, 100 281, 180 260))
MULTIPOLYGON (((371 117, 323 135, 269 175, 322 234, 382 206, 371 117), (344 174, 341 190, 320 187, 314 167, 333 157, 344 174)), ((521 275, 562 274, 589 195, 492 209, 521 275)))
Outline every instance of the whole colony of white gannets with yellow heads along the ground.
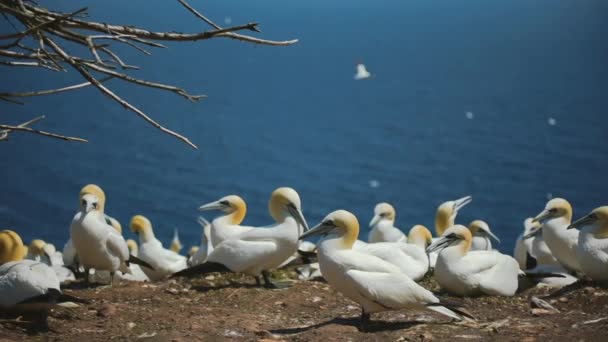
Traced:
POLYGON ((80 191, 63 253, 43 240, 26 247, 16 232, 0 232, 0 308, 61 302, 61 285, 79 276, 111 285, 115 278, 161 281, 238 272, 255 277, 260 286, 282 288, 288 284, 274 282, 269 271, 311 255, 317 262, 300 262, 300 279, 323 277, 359 303, 362 324, 371 313, 399 309, 470 319, 466 311, 442 303, 417 283, 430 273, 456 296, 512 296, 537 284, 560 287, 579 279, 608 284, 608 206, 572 222, 570 203, 551 199, 540 214, 524 221, 512 257, 492 248, 491 240, 500 240, 486 222, 456 223, 459 210, 470 202, 466 196, 438 206, 435 238, 423 225, 403 233, 395 227, 395 208, 379 203, 364 242, 359 240, 359 221, 345 210, 331 212, 309 229, 300 196, 292 188, 272 192, 269 213, 274 222, 266 227, 242 225, 247 206, 230 195, 199 208, 220 215, 211 222, 199 218, 201 244, 183 256, 177 231, 171 248, 164 248, 142 215, 130 222, 139 243, 125 240, 118 221, 105 213, 105 193, 89 184, 80 191), (320 237, 316 244, 302 241, 312 236, 320 237))

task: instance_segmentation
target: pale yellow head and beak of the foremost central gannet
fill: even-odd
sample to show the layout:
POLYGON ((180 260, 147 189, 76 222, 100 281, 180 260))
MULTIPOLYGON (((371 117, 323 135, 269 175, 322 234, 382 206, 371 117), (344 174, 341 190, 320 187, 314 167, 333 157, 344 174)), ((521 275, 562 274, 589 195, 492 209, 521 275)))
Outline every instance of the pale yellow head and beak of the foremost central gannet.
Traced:
POLYGON ((340 237, 340 247, 351 249, 359 237, 359 221, 346 210, 336 210, 327 215, 321 223, 300 236, 300 240, 314 235, 336 235, 340 237))

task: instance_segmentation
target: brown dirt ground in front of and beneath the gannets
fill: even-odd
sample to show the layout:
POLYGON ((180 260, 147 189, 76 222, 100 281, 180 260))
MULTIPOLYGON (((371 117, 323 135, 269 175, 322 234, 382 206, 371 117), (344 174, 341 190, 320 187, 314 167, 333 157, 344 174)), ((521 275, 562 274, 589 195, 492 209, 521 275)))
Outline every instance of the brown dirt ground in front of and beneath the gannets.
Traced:
POLYGON ((54 309, 48 329, 23 317, 2 319, 0 341, 608 341, 608 290, 596 287, 547 299, 559 310, 551 312, 531 305, 548 289, 461 299, 427 279, 426 288, 461 303, 477 322, 401 310, 373 314, 359 331, 359 306, 326 283, 294 281, 283 290, 254 284, 251 277, 218 274, 113 288, 72 283, 64 292, 90 304, 54 309))

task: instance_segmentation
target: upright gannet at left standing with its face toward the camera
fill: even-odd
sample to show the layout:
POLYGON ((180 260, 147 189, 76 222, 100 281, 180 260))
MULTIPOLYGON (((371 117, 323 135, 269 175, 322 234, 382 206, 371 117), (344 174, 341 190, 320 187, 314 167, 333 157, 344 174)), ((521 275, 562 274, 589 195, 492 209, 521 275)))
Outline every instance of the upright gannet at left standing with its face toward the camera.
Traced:
POLYGON ((105 202, 105 193, 99 186, 84 186, 80 190, 80 209, 70 226, 70 237, 78 261, 85 269, 85 280, 88 281, 89 269, 94 268, 109 271, 111 285, 117 270, 130 273, 129 263, 145 263, 129 254, 125 239, 106 223, 105 202))

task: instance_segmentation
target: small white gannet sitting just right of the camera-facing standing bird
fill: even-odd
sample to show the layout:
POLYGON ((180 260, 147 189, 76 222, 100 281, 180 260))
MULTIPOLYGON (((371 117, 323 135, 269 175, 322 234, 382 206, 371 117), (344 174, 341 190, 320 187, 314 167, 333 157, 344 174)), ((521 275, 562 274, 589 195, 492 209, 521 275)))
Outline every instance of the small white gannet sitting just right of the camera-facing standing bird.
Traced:
POLYGON ((170 249, 154 236, 152 223, 142 215, 131 218, 131 231, 139 236, 138 258, 147 262, 154 269, 142 268, 142 271, 152 281, 165 279, 175 272, 188 267, 187 259, 170 249))

